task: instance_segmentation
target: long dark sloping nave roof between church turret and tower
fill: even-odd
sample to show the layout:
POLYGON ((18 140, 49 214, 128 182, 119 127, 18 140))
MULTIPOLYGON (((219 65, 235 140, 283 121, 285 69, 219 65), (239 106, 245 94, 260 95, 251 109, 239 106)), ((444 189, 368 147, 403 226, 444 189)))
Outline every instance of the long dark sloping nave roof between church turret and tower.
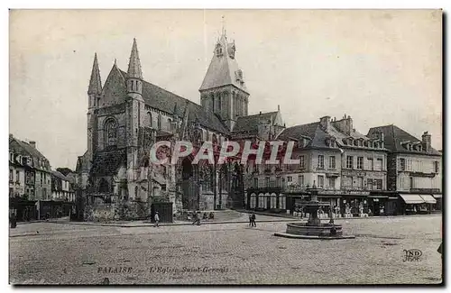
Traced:
MULTIPOLYGON (((122 71, 124 78, 126 73, 122 71)), ((189 107, 189 121, 198 123, 206 128, 212 129, 218 133, 228 133, 226 126, 214 113, 204 110, 201 105, 193 103, 188 99, 177 96, 170 91, 157 87, 150 82, 143 81, 143 99, 146 105, 161 110, 168 114, 174 114, 174 109, 180 117, 185 113, 185 108, 189 107)))

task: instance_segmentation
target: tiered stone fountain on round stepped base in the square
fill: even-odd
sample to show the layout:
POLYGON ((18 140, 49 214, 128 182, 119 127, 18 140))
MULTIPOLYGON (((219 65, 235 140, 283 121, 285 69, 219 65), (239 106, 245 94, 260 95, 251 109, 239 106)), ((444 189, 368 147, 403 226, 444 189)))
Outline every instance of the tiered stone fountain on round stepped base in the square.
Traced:
POLYGON ((306 210, 309 214, 307 223, 289 223, 285 233, 274 233, 276 236, 298 239, 353 239, 354 235, 344 235, 341 224, 334 224, 332 213, 330 221, 327 224, 321 224, 318 218, 318 209, 320 206, 330 206, 327 202, 318 201, 318 191, 315 181, 312 188, 307 188, 310 194, 310 201, 306 204, 306 210))

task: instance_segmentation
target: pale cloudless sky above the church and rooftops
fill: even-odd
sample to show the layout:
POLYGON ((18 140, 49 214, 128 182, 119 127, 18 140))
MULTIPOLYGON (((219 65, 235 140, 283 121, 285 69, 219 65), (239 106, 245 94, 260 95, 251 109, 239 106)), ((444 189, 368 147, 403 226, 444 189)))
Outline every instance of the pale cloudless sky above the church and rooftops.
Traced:
POLYGON ((126 71, 136 38, 143 78, 199 104, 222 28, 251 96, 287 127, 351 115, 395 124, 442 149, 442 22, 432 10, 12 10, 10 133, 37 142, 53 169, 87 150, 87 86, 126 71))

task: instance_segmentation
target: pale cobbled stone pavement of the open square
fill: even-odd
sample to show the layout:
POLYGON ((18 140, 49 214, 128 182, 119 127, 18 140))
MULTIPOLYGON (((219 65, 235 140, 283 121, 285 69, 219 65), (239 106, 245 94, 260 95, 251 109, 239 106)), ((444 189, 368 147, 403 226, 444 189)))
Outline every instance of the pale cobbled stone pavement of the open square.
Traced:
POLYGON ((10 281, 437 284, 441 220, 441 216, 337 220, 345 233, 357 236, 339 241, 273 236, 285 230, 285 223, 279 222, 257 222, 256 228, 240 223, 160 228, 23 224, 18 226, 22 234, 10 237, 10 281), (410 249, 422 252, 419 261, 403 261, 403 250, 410 249))

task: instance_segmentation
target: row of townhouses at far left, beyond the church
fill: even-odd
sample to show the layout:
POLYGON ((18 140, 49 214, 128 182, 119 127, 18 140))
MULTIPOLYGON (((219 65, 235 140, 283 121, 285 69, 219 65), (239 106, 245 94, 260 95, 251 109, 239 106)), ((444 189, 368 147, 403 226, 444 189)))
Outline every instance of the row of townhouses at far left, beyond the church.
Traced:
MULTIPOLYGON (((49 206, 46 202, 74 202, 72 184, 72 179, 51 170, 49 160, 38 151, 36 142, 23 142, 9 134, 10 210, 19 220, 38 218, 41 206, 49 206)), ((53 213, 56 207, 49 209, 53 213)))

